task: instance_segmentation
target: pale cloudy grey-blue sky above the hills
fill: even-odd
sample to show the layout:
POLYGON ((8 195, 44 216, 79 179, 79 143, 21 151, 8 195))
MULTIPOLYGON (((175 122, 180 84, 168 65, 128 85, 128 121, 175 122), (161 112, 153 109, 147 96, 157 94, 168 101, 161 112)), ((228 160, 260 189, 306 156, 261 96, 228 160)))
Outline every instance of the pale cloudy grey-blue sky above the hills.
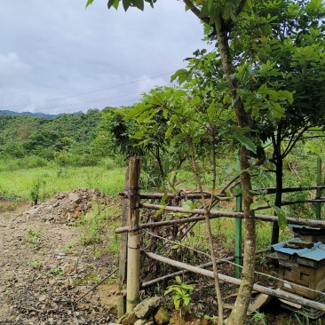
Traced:
POLYGON ((207 48, 182 1, 145 11, 107 0, 0 0, 0 110, 62 114, 130 106, 207 48))

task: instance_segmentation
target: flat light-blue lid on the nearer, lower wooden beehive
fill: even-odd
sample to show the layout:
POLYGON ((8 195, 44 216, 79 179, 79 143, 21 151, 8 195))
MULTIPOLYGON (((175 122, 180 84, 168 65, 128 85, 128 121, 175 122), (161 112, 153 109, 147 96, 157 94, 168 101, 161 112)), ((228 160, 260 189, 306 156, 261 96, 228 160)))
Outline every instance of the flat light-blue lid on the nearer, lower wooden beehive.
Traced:
MULTIPOLYGON (((321 261, 325 259, 325 245, 321 242, 316 242, 313 244, 311 249, 292 249, 289 247, 285 247, 290 241, 287 242, 279 242, 277 244, 272 245, 271 247, 275 251, 279 251, 283 254, 289 255, 297 255, 299 258, 308 258, 312 259, 313 261, 321 261)), ((301 241, 300 238, 295 238, 295 241, 301 241)))

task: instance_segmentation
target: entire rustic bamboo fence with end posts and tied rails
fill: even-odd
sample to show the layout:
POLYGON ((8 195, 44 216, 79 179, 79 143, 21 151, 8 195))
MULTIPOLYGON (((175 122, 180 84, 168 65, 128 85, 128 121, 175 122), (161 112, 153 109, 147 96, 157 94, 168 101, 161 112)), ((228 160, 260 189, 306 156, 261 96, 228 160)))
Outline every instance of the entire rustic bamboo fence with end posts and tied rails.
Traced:
MULTIPOLYGON (((186 270, 186 272, 198 273, 203 276, 207 276, 213 278, 213 272, 207 270, 211 264, 207 263, 202 266, 190 266, 185 263, 181 263, 176 260, 172 260, 170 258, 164 258, 163 256, 157 255, 154 252, 149 251, 141 251, 140 248, 140 236, 141 230, 162 226, 170 226, 175 224, 189 224, 196 223, 204 220, 204 210, 202 209, 194 209, 194 210, 186 210, 184 208, 176 207, 176 206, 163 206, 160 204, 152 204, 141 202, 141 199, 162 199, 163 194, 141 194, 139 188, 139 179, 140 179, 140 165, 139 165, 139 157, 131 157, 129 167, 126 172, 125 177, 125 192, 119 194, 119 196, 123 197, 123 222, 122 226, 115 229, 115 234, 122 234, 123 240, 121 241, 120 247, 120 289, 124 289, 126 286, 126 312, 131 312, 135 305, 139 302, 139 290, 140 290, 140 278, 139 278, 139 270, 140 270, 140 254, 145 254, 147 258, 155 259, 156 261, 163 262, 167 265, 174 266, 179 268, 180 270, 186 270), (192 215, 193 217, 188 218, 178 218, 178 219, 170 219, 159 222, 152 223, 140 223, 139 219, 139 210, 140 209, 149 209, 149 210, 164 210, 170 212, 180 212, 184 214, 192 215)), ((311 186, 311 187, 291 187, 284 189, 284 192, 292 192, 297 190, 310 190, 316 189, 318 191, 320 188, 325 186, 311 186), (299 188, 299 189, 298 189, 299 188)), ((271 194, 274 190, 268 189, 268 193, 271 194)), ((321 198, 321 195, 318 191, 317 200, 307 200, 305 202, 324 202, 324 198, 321 198)), ((201 198, 201 194, 178 194, 180 196, 183 195, 184 198, 201 198)), ((207 197, 211 197, 211 194, 205 194, 207 197)), ((174 194, 168 194, 167 198, 174 198, 174 194)), ((226 195, 219 194, 216 196, 218 200, 227 200, 226 195)), ((291 202, 290 202, 291 203, 291 202)), ((210 218, 243 218, 242 212, 231 212, 231 211, 222 211, 222 210, 210 210, 210 218)), ((264 215, 264 214, 256 214, 256 218, 266 222, 277 222, 276 216, 264 215)), ((321 219, 301 219, 301 218, 287 218, 287 224, 292 225, 302 225, 302 226, 313 226, 320 227, 325 229, 325 221, 321 219)), ((235 258, 227 258, 228 260, 233 260, 235 258)), ((219 263, 225 262, 225 260, 218 260, 219 263)), ((182 271, 180 271, 182 272, 182 271)), ((148 281, 142 284, 142 288, 147 288, 150 285, 155 284, 157 281, 163 281, 166 279, 170 279, 173 275, 177 273, 172 273, 169 275, 165 275, 153 281, 148 281)), ((218 278, 220 281, 225 281, 232 283, 234 285, 241 285, 241 280, 238 278, 230 277, 225 274, 218 273, 218 278)), ((289 293, 287 291, 281 289, 271 289, 264 287, 262 285, 254 284, 254 290, 264 293, 269 296, 278 297, 281 299, 288 300, 291 303, 303 305, 305 307, 310 307, 325 313, 325 305, 306 299, 305 297, 300 297, 295 294, 289 293)), ((320 294, 323 294, 320 292, 320 294)), ((124 299, 124 297, 122 298, 124 299)), ((122 301, 122 300, 121 300, 122 301)), ((123 301, 119 304, 119 315, 122 315, 124 310, 123 301)))

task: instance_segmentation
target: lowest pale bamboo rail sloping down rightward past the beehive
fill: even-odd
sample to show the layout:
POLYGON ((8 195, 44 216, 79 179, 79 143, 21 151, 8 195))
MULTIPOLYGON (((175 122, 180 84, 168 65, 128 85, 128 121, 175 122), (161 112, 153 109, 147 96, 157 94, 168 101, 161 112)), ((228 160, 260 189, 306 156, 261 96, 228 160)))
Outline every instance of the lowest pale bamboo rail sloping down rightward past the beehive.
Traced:
MULTIPOLYGON (((174 260, 172 260, 170 258, 164 258, 164 257, 162 257, 160 255, 156 255, 156 254, 151 253, 151 252, 144 252, 144 253, 147 255, 148 258, 153 258, 153 259, 155 259, 157 261, 163 262, 163 263, 168 264, 170 266, 175 266, 175 267, 178 267, 178 268, 181 268, 181 269, 193 272, 193 273, 197 273, 197 274, 207 276, 209 278, 214 277, 212 271, 204 270, 204 269, 202 269, 200 267, 197 267, 197 266, 188 266, 185 263, 174 261, 174 260)), ((218 278, 219 278, 220 281, 233 283, 233 284, 238 285, 238 286, 240 286, 241 283, 242 283, 242 281, 240 279, 235 279, 235 278, 233 278, 231 276, 227 276, 227 275, 220 274, 220 273, 218 274, 218 278)), ((298 304, 298 305, 304 305, 305 307, 310 307, 310 308, 316 309, 318 311, 321 311, 322 313, 325 313, 325 305, 323 305, 323 304, 321 304, 319 302, 313 301, 313 300, 305 299, 304 297, 300 297, 300 296, 297 296, 295 294, 291 294, 291 293, 286 292, 284 290, 270 289, 270 288, 263 287, 263 286, 261 286, 259 284, 254 284, 253 289, 258 291, 258 292, 264 293, 264 294, 266 294, 268 296, 273 296, 273 297, 277 297, 277 298, 280 298, 280 299, 285 299, 285 300, 288 300, 289 302, 292 302, 292 303, 295 303, 295 304, 298 304)))

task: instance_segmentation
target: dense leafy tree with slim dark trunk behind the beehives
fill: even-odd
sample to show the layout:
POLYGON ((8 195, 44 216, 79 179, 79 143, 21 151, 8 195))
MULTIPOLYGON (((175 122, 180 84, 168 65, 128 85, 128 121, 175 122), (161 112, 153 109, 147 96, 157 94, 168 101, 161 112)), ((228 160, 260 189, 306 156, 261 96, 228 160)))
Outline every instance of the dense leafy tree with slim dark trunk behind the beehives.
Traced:
MULTIPOLYGON (((324 94, 320 89, 325 86, 321 23, 325 12, 318 0, 257 3, 250 5, 250 12, 253 14, 235 28, 238 37, 234 45, 242 48, 245 58, 237 73, 245 86, 242 97, 251 107, 258 107, 257 94, 260 104, 273 106, 272 111, 259 109, 258 115, 252 114, 252 128, 258 130, 263 143, 272 143, 269 160, 275 164, 274 204, 280 207, 284 158, 305 131, 324 121, 324 94), (265 23, 267 20, 271 24, 265 23), (264 31, 258 37, 254 31, 261 23, 264 31), (283 103, 285 99, 287 103, 283 103)), ((274 224, 272 243, 278 242, 278 237, 279 226, 274 224)))

